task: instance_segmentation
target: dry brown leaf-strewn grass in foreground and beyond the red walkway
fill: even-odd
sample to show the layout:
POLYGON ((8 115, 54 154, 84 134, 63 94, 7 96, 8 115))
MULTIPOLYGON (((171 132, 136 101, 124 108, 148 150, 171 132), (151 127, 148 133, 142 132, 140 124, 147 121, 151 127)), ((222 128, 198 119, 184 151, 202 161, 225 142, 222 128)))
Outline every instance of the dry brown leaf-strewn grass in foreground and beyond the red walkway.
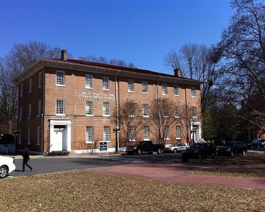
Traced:
MULTIPOLYGON (((242 157, 240 157, 242 158, 242 157)), ((247 160, 245 157, 242 158, 247 160)), ((217 162, 218 158, 213 161, 217 162)), ((221 163, 225 164, 225 158, 221 163)), ((227 159, 230 163, 230 158, 227 159)), ((232 158, 234 160, 234 158, 232 158)), ((240 160, 240 159, 238 159, 240 160)), ((257 158, 253 160, 258 160, 257 158)), ((263 159, 259 159, 263 160, 263 159)), ((242 162, 242 160, 240 160, 242 162)), ((252 163, 252 160, 249 160, 252 163)), ((240 163, 241 163, 240 162, 240 163)), ((198 163, 191 161, 190 163, 198 163)), ((211 163, 210 160, 204 163, 211 163)), ((247 162, 244 162, 247 163, 247 162)), ((259 162, 257 162, 259 163, 259 162)), ((235 163, 233 163, 235 164, 235 163)), ((160 182, 95 172, 0 181, 1 211, 264 211, 264 189, 160 182)))

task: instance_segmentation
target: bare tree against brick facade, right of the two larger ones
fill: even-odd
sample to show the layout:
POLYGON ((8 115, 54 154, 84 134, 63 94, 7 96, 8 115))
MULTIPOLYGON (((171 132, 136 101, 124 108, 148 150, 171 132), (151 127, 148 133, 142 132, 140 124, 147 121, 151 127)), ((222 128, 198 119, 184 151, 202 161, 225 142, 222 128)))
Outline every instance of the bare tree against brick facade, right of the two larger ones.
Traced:
POLYGON ((166 143, 170 131, 179 123, 175 114, 175 103, 168 98, 154 99, 150 105, 150 122, 153 135, 159 143, 166 143))

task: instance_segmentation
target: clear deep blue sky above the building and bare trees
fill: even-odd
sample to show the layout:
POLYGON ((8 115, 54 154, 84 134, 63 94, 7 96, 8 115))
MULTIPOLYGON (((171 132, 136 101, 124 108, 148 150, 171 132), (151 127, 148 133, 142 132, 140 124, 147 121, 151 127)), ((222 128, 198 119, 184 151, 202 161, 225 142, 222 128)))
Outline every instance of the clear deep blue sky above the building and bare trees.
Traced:
POLYGON ((1 0, 0 57, 15 43, 37 41, 74 58, 123 59, 171 73, 167 52, 215 44, 232 14, 229 0, 1 0))

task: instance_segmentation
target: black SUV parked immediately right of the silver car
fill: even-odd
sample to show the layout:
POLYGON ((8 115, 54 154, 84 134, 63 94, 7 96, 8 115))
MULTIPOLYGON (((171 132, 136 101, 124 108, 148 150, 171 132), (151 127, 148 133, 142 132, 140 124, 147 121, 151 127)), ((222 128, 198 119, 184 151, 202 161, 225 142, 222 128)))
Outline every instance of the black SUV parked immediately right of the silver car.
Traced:
POLYGON ((182 161, 188 162, 192 158, 214 158, 216 156, 216 146, 213 143, 194 143, 186 151, 182 151, 182 161))

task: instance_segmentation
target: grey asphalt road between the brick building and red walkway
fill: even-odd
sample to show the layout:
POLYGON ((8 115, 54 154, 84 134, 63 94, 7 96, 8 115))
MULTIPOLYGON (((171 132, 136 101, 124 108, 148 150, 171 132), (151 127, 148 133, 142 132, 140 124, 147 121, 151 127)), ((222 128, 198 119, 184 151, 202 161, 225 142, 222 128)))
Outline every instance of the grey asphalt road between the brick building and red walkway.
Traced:
POLYGON ((30 172, 28 167, 25 167, 25 172, 21 172, 22 158, 16 157, 16 170, 11 172, 10 177, 40 175, 70 170, 84 170, 95 167, 108 167, 133 163, 166 163, 168 161, 180 161, 181 158, 182 156, 180 153, 163 153, 160 155, 73 155, 67 157, 31 156, 29 164, 33 167, 33 171, 30 172))

